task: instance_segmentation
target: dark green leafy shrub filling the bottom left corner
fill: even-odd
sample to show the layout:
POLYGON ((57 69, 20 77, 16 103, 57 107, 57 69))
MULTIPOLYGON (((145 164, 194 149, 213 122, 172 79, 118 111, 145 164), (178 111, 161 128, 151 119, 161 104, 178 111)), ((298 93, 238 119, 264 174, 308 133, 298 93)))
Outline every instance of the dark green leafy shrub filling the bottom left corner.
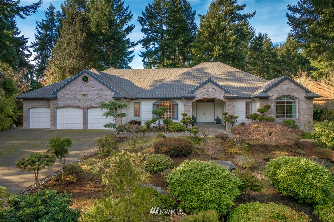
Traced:
POLYGON ((77 221, 81 210, 70 207, 71 196, 50 188, 19 196, 19 202, 1 212, 1 221, 77 221))

